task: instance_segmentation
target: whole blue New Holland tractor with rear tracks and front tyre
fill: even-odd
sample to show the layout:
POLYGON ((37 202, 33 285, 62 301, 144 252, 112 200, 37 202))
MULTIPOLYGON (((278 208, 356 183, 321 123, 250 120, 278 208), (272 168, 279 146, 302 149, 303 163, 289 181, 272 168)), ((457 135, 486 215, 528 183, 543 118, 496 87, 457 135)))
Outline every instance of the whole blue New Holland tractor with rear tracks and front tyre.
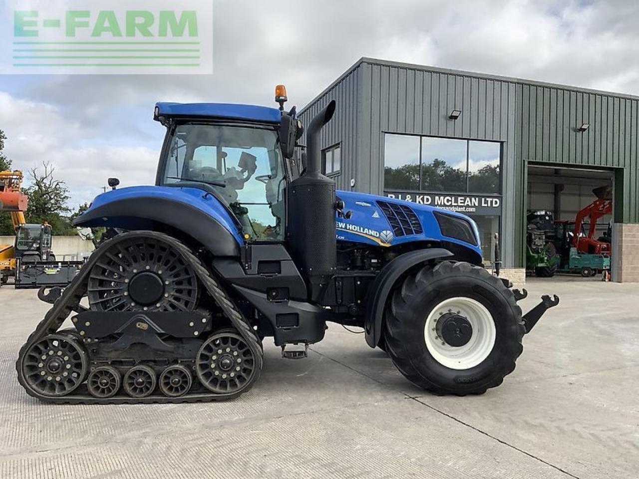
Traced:
POLYGON ((295 108, 157 103, 167 133, 155 186, 99 195, 75 225, 119 232, 52 303, 17 360, 33 397, 63 403, 235 398, 258 380, 262 342, 304 358, 328 323, 364 328, 399 372, 441 394, 502 383, 521 340, 558 302, 521 316, 482 268, 468 217, 351 191, 320 172, 331 101, 295 108), (63 328, 70 319, 71 328, 63 328))

